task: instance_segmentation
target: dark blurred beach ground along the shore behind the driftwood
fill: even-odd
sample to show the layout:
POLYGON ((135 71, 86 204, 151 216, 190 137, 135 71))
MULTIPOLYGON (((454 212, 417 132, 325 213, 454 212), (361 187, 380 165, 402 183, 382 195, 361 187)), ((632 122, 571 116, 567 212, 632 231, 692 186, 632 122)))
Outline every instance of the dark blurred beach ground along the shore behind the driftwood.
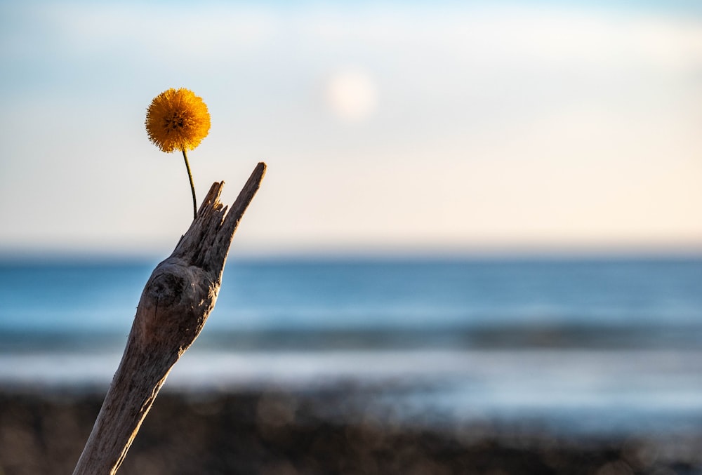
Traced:
MULTIPOLYGON (((413 427, 364 415, 359 391, 166 391, 119 473, 702 473, 700 434, 578 439, 521 424, 413 427)), ((2 392, 0 474, 72 473, 101 402, 99 391, 2 392)))

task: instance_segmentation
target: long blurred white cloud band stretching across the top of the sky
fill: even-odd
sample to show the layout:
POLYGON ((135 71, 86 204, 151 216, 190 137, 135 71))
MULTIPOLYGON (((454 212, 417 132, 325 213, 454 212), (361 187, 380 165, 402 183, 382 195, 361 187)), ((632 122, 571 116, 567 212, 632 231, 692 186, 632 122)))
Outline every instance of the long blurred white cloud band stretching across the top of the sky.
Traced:
MULTIPOLYGON (((305 46, 337 51, 354 44, 397 58, 440 58, 496 65, 514 60, 612 67, 641 63, 687 68, 702 62, 699 18, 602 11, 585 6, 402 4, 274 8, 268 4, 29 3, 23 20, 46 29, 65 53, 121 51, 170 61, 232 58, 241 51, 305 46), (133 49, 138 46, 138 49, 133 49)), ((15 32, 17 34, 17 32, 15 32)), ((26 38, 25 38, 26 39, 26 38)), ((21 46, 22 41, 15 42, 21 46)), ((302 52, 306 54, 305 52, 302 52)))

